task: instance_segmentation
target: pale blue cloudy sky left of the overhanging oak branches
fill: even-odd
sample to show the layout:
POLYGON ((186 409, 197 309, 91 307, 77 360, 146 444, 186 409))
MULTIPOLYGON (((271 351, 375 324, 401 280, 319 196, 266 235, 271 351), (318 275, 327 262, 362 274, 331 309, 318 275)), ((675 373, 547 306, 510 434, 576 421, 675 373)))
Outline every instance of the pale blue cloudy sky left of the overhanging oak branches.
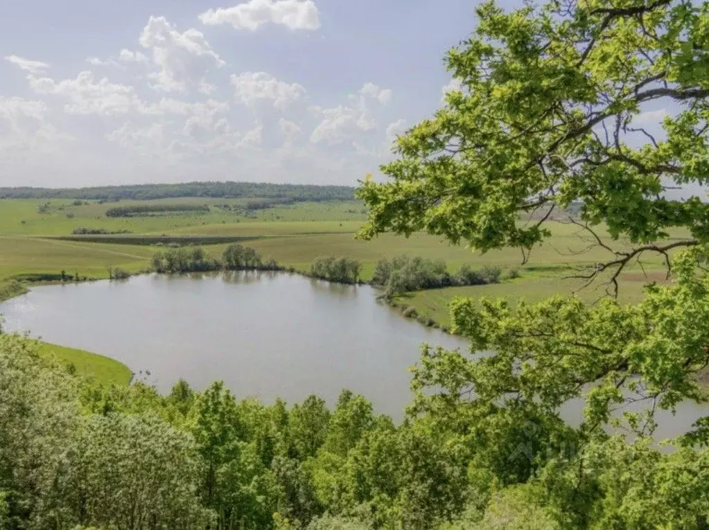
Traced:
POLYGON ((475 5, 0 0, 0 186, 354 185, 441 105, 475 5))

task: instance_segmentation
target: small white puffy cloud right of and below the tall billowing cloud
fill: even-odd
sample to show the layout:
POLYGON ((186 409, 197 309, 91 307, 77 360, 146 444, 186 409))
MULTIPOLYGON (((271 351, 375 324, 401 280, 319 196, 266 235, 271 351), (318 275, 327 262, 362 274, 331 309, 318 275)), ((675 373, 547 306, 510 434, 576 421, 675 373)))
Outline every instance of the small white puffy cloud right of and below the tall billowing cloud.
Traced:
POLYGON ((272 101, 274 107, 284 110, 306 96, 303 86, 279 81, 266 72, 232 74, 230 79, 236 100, 247 106, 254 106, 258 101, 272 101))

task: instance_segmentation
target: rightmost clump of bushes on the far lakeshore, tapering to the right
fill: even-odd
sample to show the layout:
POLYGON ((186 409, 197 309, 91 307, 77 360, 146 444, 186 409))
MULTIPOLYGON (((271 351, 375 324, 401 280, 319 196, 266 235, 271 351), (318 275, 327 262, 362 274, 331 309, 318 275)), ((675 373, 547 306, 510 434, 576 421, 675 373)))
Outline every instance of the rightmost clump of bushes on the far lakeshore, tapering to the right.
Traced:
POLYGON ((372 274, 372 285, 384 288, 384 295, 391 297, 422 289, 498 283, 501 274, 498 266, 475 270, 467 264, 457 274, 450 274, 445 261, 403 255, 379 260, 372 274))

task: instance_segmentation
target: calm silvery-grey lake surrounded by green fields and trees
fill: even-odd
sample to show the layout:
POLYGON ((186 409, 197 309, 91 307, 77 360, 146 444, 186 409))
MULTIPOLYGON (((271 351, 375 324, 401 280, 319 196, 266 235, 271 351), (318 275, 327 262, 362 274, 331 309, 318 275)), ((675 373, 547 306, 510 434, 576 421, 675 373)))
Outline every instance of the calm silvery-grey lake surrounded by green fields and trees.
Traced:
MULTIPOLYGON (((44 286, 0 303, 0 313, 9 330, 118 359, 163 393, 179 378, 198 390, 220 379, 238 397, 292 404, 315 393, 332 406, 349 388, 396 420, 410 402, 407 368, 420 345, 467 349, 377 302, 370 286, 272 272, 44 286)), ((582 406, 567 403, 562 417, 579 424, 582 406)), ((676 415, 659 412, 657 438, 708 414, 692 402, 676 415)))

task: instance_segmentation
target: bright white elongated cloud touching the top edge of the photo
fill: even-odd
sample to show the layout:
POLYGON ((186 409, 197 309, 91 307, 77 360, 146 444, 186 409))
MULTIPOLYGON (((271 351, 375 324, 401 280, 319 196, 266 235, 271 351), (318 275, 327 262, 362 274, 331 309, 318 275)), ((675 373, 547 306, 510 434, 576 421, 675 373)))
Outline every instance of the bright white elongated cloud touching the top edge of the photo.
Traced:
POLYGON ((230 24, 238 30, 255 31, 264 24, 291 30, 320 28, 318 8, 312 0, 248 0, 233 7, 210 9, 199 16, 203 24, 230 24))

